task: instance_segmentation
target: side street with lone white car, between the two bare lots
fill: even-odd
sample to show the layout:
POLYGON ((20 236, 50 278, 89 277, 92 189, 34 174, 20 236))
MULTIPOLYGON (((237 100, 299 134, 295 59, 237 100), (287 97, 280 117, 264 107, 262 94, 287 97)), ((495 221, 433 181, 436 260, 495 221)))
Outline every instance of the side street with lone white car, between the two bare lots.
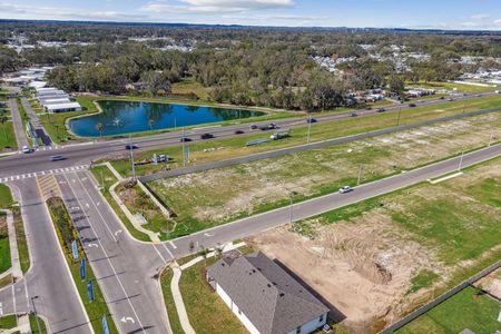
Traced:
MULTIPOLYGON (((471 166, 480 161, 501 155, 501 144, 478 151, 465 154, 462 166, 471 166)), ((356 187, 348 194, 331 194, 307 202, 293 205, 293 222, 316 216, 353 203, 357 203, 382 194, 387 194, 400 188, 424 181, 430 178, 454 171, 458 169, 461 157, 455 157, 423 168, 399 174, 379 181, 356 187)), ((190 253, 189 244, 194 242, 198 246, 212 247, 237 238, 250 236, 259 232, 271 229, 289 223, 291 207, 284 207, 230 224, 222 225, 190 236, 173 240, 177 247, 174 254, 177 258, 190 253)), ((170 244, 170 243, 168 243, 170 244)))

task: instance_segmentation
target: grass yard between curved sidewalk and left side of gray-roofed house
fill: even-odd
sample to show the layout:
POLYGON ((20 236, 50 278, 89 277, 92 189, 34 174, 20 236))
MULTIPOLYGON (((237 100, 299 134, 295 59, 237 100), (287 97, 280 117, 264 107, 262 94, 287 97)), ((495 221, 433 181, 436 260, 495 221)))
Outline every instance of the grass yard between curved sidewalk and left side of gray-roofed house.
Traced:
POLYGON ((214 264, 215 257, 183 271, 179 289, 189 322, 197 333, 247 333, 223 299, 205 282, 203 268, 214 264))

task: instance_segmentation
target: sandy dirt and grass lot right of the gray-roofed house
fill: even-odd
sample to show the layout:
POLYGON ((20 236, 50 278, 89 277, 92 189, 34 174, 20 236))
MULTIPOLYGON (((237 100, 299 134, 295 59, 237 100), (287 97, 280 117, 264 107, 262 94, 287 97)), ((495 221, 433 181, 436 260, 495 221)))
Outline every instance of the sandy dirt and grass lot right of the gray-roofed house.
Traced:
MULTIPOLYGON (((449 286, 458 271, 499 254, 500 164, 385 196, 365 212, 352 208, 302 222, 301 233, 297 225, 285 226, 248 243, 334 305, 345 317, 343 327, 372 333, 433 297, 433 288, 449 286), (436 278, 422 281, 423 272, 436 278)), ((500 275, 482 286, 500 294, 500 275)))

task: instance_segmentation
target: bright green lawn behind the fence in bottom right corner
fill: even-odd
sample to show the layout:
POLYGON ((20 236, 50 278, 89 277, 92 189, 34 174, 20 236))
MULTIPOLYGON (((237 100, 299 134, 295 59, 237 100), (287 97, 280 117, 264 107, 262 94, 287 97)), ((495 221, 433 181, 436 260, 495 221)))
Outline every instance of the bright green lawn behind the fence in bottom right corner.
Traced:
POLYGON ((497 321, 499 310, 498 302, 466 287, 395 333, 460 333, 464 328, 474 333, 494 333, 501 331, 497 321))

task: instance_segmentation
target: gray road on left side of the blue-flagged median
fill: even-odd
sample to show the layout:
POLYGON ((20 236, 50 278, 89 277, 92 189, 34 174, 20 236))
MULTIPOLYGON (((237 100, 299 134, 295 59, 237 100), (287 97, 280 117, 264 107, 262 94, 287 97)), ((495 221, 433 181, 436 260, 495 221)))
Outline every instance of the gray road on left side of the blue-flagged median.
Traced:
POLYGON ((37 311, 48 321, 52 333, 91 333, 35 179, 10 186, 16 199, 22 203, 31 268, 23 279, 0 289, 3 313, 29 312, 30 297, 38 296, 37 311))

